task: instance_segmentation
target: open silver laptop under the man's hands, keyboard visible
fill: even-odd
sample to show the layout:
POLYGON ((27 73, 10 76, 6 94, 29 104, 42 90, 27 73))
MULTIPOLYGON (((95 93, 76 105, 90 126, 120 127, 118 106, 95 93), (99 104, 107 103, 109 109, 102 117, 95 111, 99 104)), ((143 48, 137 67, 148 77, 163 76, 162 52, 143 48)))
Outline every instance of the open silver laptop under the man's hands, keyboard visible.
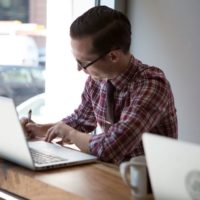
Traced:
POLYGON ((32 170, 95 162, 97 157, 44 141, 27 142, 12 99, 0 97, 0 158, 32 170))

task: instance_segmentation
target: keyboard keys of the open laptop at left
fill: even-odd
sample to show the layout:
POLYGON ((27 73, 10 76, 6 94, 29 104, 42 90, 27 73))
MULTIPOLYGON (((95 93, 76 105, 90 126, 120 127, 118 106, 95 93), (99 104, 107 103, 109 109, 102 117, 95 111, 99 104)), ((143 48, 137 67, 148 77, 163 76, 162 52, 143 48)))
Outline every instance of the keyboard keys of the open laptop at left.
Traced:
POLYGON ((32 148, 30 148, 30 152, 31 152, 34 162, 38 164, 46 164, 46 163, 60 162, 60 161, 66 160, 57 156, 52 156, 52 155, 39 152, 32 148))

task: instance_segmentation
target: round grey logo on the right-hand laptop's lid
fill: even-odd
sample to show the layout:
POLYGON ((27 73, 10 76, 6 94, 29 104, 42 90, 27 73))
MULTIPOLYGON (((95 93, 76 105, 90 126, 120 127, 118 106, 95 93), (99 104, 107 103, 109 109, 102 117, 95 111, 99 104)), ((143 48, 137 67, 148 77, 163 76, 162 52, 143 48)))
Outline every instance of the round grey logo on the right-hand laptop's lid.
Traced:
POLYGON ((200 200, 200 171, 190 171, 185 177, 185 185, 192 200, 200 200))

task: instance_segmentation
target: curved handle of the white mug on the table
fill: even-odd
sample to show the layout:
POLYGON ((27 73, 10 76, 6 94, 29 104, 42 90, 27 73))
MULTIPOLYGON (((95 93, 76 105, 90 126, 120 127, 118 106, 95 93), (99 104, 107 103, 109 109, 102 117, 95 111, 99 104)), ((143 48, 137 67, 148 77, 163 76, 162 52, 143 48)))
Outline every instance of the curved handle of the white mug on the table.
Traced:
POLYGON ((139 167, 139 166, 144 166, 144 165, 145 165, 144 163, 139 162, 139 161, 135 161, 134 163, 127 161, 127 162, 123 162, 123 163, 120 164, 120 173, 121 173, 123 181, 129 187, 131 187, 135 192, 138 191, 138 188, 131 185, 128 171, 129 171, 130 166, 138 166, 139 167))

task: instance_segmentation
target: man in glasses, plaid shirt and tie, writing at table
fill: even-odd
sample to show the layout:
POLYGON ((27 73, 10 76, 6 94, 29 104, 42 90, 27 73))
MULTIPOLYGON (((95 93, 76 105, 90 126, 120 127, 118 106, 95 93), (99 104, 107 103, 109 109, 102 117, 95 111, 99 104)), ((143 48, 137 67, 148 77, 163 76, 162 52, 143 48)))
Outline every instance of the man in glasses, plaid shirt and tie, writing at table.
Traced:
POLYGON ((125 15, 106 6, 91 8, 72 23, 70 36, 78 70, 89 75, 82 102, 58 123, 22 119, 29 137, 45 136, 48 142, 61 137, 115 164, 144 154, 144 132, 177 138, 170 84, 160 69, 131 55, 131 25, 125 15), (107 94, 108 87, 113 94, 107 94), (97 125, 102 132, 88 134, 97 125))

